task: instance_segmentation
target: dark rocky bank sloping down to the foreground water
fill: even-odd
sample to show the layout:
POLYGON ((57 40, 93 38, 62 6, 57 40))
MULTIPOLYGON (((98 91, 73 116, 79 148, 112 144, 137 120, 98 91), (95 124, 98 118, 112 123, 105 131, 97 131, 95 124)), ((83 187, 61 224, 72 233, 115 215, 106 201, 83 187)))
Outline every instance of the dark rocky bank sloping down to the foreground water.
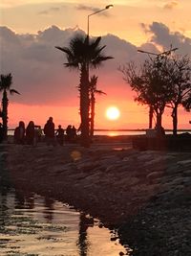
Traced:
POLYGON ((133 255, 191 255, 191 152, 130 144, 0 146, 0 178, 117 228, 133 255))

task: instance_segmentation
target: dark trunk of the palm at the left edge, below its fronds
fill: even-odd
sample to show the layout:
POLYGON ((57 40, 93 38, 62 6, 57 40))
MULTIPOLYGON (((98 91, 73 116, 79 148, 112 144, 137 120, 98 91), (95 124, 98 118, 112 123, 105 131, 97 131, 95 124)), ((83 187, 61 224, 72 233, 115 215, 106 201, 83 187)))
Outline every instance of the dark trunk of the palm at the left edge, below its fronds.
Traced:
POLYGON ((7 91, 3 91, 2 99, 2 121, 3 121, 3 138, 6 140, 8 137, 8 105, 9 100, 7 96, 7 91))

